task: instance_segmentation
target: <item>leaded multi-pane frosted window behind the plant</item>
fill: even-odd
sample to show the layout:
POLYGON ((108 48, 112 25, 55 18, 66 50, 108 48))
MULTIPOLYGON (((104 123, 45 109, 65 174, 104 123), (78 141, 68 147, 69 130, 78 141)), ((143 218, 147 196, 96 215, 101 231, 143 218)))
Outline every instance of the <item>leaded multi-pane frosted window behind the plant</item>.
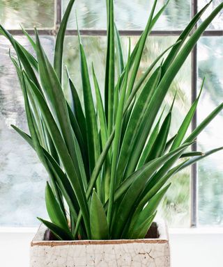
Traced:
MULTIPOLYGON (((164 2, 160 0, 159 5, 164 2)), ((151 37, 148 38, 141 72, 155 56, 160 54, 160 51, 174 43, 191 17, 207 2, 208 0, 170 1, 151 37)), ((117 26, 121 31, 126 54, 127 36, 131 37, 132 44, 137 41, 151 10, 151 1, 117 0, 114 3, 117 26)), ((220 0, 214 0, 209 10, 206 10, 206 14, 217 6, 217 3, 220 3, 220 0)), ((29 29, 31 34, 33 26, 37 26, 47 54, 52 57, 56 29, 67 4, 68 0, 57 0, 55 3, 53 0, 47 2, 3 0, 0 3, 0 22, 30 50, 29 43, 22 36, 20 24, 29 29)), ((77 0, 74 9, 77 9, 79 28, 89 63, 97 62, 95 72, 98 74, 100 87, 103 88, 104 73, 101 66, 105 65, 106 55, 105 1, 77 0)), ((167 105, 171 103, 177 89, 175 109, 176 112, 180 112, 177 112, 178 115, 172 122, 176 130, 191 102, 196 98, 203 76, 206 76, 205 88, 192 128, 222 102, 223 81, 220 67, 223 62, 222 25, 222 16, 219 15, 203 34, 171 85, 165 102, 167 105)), ((10 127, 10 124, 16 124, 26 130, 22 92, 13 65, 8 58, 9 47, 10 44, 6 39, 0 36, 0 226, 29 227, 38 225, 36 216, 46 216, 44 191, 47 175, 36 154, 10 127)), ((64 60, 77 88, 80 88, 77 47, 75 12, 73 12, 68 24, 64 60)), ((66 86, 66 79, 64 83, 66 86)), ((199 136, 193 149, 198 147, 199 150, 206 151, 220 146, 223 143, 223 130, 220 129, 222 124, 221 113, 199 136)), ((223 225, 222 161, 223 154, 218 152, 172 178, 172 186, 160 210, 169 221, 169 225, 173 227, 223 225)))

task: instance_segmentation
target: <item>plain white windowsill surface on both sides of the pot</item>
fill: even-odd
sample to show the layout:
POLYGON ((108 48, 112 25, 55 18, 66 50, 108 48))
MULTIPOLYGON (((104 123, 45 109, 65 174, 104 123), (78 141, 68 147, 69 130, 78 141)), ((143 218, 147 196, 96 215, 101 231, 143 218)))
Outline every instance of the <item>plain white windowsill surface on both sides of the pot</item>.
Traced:
MULTIPOLYGON (((29 266, 29 243, 36 229, 19 231, 0 229, 0 266, 29 266)), ((223 229, 171 229, 170 242, 171 267, 223 266, 223 229)))

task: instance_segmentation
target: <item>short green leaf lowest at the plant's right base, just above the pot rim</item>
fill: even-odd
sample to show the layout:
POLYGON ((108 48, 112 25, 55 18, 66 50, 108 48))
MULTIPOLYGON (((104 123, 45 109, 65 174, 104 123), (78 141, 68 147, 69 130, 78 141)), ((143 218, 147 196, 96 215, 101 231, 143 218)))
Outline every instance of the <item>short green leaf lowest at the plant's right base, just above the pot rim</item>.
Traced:
POLYGON ((132 232, 128 235, 129 239, 141 239, 144 238, 148 232, 148 229, 151 227, 153 220, 156 216, 157 212, 146 218, 146 220, 139 225, 139 227, 135 227, 132 232))

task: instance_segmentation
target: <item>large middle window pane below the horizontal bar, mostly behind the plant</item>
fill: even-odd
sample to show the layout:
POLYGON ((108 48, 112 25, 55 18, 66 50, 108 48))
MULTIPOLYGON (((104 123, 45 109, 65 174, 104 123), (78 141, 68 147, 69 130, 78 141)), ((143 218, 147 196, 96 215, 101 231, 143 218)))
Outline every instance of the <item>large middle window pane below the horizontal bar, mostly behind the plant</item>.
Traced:
MULTIPOLYGON (((136 37, 131 38, 132 47, 137 42, 136 37)), ((151 37, 144 51, 143 60, 141 63, 140 72, 146 70, 146 67, 150 65, 153 60, 170 44, 174 43, 176 38, 173 37, 151 37)), ((91 62, 95 65, 95 74, 98 77, 100 84, 100 90, 104 88, 105 77, 105 56, 106 56, 106 38, 105 37, 82 37, 84 49, 86 51, 86 58, 89 66, 91 62)), ((124 48, 124 54, 126 58, 128 49, 128 38, 122 37, 122 44, 124 48)), ((70 74, 75 86, 79 91, 79 95, 82 95, 82 82, 79 70, 79 51, 77 37, 67 37, 65 44, 65 63, 68 65, 70 74)), ((91 68, 89 67, 91 75, 91 68)), ((191 75, 190 75, 190 58, 188 58, 182 70, 176 77, 174 83, 171 86, 170 92, 167 95, 165 102, 168 106, 174 98, 176 90, 178 95, 176 97, 176 105, 174 107, 173 128, 171 136, 176 134, 180 123, 183 120, 183 116, 187 112, 190 105, 191 98, 191 75)), ((93 88, 93 87, 92 87, 93 88)), ((169 189, 167 196, 164 199, 162 205, 162 211, 160 212, 171 226, 190 226, 190 168, 180 172, 171 179, 172 187, 169 189)))

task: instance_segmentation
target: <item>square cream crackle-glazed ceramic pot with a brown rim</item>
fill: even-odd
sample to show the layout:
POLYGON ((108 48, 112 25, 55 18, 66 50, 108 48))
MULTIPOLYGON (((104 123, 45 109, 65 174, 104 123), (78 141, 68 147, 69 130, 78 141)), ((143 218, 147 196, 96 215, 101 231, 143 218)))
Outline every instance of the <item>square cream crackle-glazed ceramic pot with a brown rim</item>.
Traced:
POLYGON ((146 238, 108 241, 50 241, 44 225, 31 242, 31 267, 169 267, 164 223, 153 223, 146 238))

